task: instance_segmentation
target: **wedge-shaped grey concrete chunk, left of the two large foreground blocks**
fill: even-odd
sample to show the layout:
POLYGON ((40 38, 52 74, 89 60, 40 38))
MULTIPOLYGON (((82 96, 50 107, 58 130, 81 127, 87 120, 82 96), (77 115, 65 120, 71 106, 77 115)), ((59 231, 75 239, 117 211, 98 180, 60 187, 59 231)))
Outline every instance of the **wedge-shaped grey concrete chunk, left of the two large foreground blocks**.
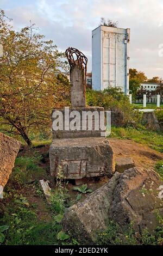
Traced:
POLYGON ((67 233, 78 237, 79 242, 90 245, 97 234, 106 228, 114 190, 121 174, 115 173, 108 184, 91 193, 84 202, 71 206, 64 215, 62 224, 67 233))

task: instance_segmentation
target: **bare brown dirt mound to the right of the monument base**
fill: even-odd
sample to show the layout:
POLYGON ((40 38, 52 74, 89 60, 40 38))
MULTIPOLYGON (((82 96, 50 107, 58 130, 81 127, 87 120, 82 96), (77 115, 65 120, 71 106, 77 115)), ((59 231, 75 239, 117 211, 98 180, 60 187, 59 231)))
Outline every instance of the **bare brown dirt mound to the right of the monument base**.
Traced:
POLYGON ((156 162, 163 159, 162 153, 130 139, 110 138, 109 142, 115 157, 132 157, 136 167, 153 169, 156 162))

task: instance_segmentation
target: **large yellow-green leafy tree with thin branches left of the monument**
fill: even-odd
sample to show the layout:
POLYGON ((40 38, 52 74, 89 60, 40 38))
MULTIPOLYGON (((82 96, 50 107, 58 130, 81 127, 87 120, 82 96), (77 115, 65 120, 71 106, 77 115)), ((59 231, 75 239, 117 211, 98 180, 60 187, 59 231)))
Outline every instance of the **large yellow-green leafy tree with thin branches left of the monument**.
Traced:
POLYGON ((1 131, 22 136, 31 145, 29 133, 49 129, 52 108, 68 102, 70 85, 57 75, 65 68, 64 54, 53 41, 46 41, 35 25, 15 32, 9 22, 0 10, 1 131))

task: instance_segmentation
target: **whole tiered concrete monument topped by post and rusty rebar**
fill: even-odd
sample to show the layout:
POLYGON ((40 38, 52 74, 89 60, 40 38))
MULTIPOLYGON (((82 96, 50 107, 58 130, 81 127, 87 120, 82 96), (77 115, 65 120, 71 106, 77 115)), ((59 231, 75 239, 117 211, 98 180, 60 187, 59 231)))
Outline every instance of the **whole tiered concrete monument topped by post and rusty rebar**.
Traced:
POLYGON ((57 177, 61 168, 66 179, 111 176, 115 172, 114 153, 108 140, 101 137, 105 133, 101 125, 104 108, 86 106, 87 58, 76 48, 68 48, 66 56, 72 107, 54 109, 52 113, 51 174, 57 177))

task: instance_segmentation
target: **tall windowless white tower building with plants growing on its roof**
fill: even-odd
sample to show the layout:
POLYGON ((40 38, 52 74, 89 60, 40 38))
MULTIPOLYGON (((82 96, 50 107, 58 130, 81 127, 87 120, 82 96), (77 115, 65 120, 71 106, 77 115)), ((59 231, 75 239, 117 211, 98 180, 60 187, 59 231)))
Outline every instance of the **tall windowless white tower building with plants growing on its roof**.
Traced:
POLYGON ((130 29, 99 26, 92 31, 92 88, 121 87, 129 94, 130 29))

